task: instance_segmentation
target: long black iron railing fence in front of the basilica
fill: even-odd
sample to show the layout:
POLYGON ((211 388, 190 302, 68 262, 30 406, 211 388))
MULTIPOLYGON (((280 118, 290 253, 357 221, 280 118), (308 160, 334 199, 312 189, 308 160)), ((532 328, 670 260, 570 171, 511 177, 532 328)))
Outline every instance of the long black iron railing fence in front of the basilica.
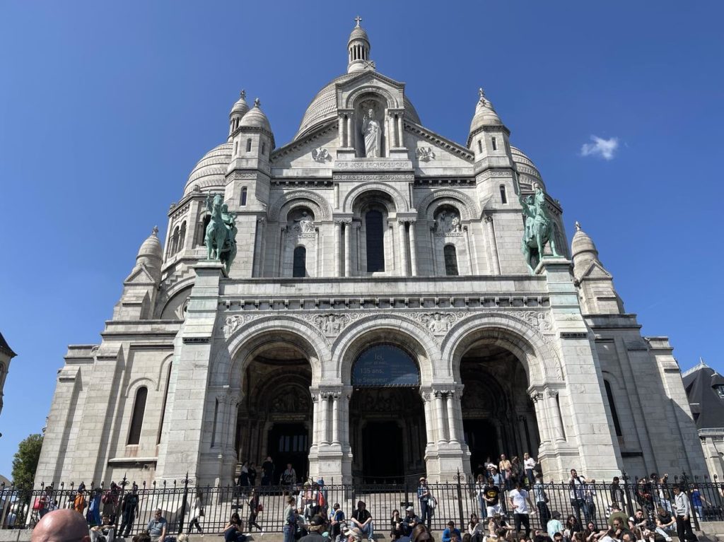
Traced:
MULTIPOLYGON (((568 482, 532 486, 526 482, 524 485, 534 504, 530 516, 533 528, 544 529, 553 512, 560 512, 562 522, 573 515, 584 529, 588 522, 601 528, 614 505, 618 505, 626 516, 633 516, 637 509, 641 509, 644 515, 655 519, 660 508, 673 513, 674 486, 680 487, 689 496, 691 517, 696 528, 699 528, 699 522, 724 521, 724 483, 716 477, 689 478, 683 474, 673 479, 650 480, 631 479, 623 475, 618 484, 598 481, 585 483, 584 486, 571 486, 568 482)), ((500 485, 499 504, 500 513, 512 518, 511 488, 512 480, 500 485)), ((437 504, 430 519, 432 530, 444 529, 450 520, 462 530, 468 525, 471 515, 476 515, 481 521, 487 517, 487 503, 481 496, 481 484, 458 479, 452 483, 430 484, 429 492, 437 504)), ((198 517, 198 525, 205 533, 220 533, 233 513, 240 515, 245 532, 259 528, 266 532, 280 532, 285 523, 288 496, 295 499, 295 506, 302 510, 303 515, 309 515, 313 506, 320 503, 321 511, 331 514, 332 506, 340 504, 347 520, 358 501, 363 501, 373 517, 375 532, 382 534, 390 532, 395 510, 404 516, 405 507, 413 506, 417 515, 421 513, 417 488, 412 484, 332 485, 315 490, 313 486, 301 485, 201 487, 195 486, 189 479, 135 486, 123 479, 111 486, 60 483, 58 486, 41 485, 32 490, 0 486, 0 528, 32 528, 50 510, 75 507, 86 517, 89 525, 95 525, 108 515, 117 525, 117 536, 135 535, 145 530, 153 512, 161 509, 168 521, 169 533, 182 533, 188 530, 190 521, 197 515, 197 493, 203 504, 203 516, 198 517), (258 496, 258 509, 252 506, 255 502, 252 491, 258 496), (250 519, 256 519, 258 527, 250 525, 250 519)))

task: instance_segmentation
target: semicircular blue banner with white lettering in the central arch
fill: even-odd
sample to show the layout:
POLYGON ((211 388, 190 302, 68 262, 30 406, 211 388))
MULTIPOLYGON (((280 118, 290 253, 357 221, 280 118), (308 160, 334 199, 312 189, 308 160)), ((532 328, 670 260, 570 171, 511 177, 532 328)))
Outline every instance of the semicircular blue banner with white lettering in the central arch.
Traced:
POLYGON ((404 350, 391 344, 371 347, 352 368, 353 386, 419 386, 420 371, 404 350))

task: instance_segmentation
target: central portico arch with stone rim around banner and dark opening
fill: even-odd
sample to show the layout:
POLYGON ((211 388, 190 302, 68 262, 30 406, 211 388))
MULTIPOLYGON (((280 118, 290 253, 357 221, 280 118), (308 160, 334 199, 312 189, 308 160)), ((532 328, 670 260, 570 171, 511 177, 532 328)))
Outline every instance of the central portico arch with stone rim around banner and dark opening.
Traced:
POLYGON ((352 387, 351 467, 358 483, 402 483, 426 470, 420 385, 431 378, 429 354, 417 333, 384 320, 357 323, 337 349, 342 381, 352 387))

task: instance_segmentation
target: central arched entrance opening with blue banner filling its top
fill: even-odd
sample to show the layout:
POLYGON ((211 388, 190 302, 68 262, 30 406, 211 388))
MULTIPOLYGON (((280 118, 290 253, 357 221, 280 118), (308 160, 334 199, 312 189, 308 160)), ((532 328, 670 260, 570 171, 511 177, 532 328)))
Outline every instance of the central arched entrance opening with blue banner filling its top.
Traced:
POLYGON ((425 473, 420 370, 393 344, 363 350, 352 367, 352 474, 358 483, 401 483, 425 473))

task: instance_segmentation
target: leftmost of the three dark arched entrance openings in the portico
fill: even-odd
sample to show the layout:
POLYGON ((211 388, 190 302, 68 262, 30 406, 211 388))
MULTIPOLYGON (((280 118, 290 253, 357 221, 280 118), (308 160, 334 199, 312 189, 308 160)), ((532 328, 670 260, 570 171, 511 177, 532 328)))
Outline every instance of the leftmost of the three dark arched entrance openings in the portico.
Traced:
MULTIPOLYGON (((312 373, 306 355, 295 344, 269 342, 256 350, 243 374, 236 450, 240 462, 274 462, 272 483, 287 463, 299 480, 308 473, 311 445, 312 373)), ((258 477, 261 468, 257 466, 258 477)))

